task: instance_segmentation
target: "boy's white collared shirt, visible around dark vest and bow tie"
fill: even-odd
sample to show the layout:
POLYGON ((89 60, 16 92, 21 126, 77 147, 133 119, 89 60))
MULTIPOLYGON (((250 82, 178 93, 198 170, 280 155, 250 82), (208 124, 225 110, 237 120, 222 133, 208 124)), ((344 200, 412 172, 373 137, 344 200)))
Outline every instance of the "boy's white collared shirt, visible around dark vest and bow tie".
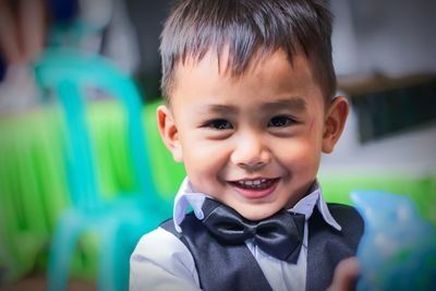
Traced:
MULTIPOLYGON (((204 193, 198 193, 186 178, 175 198, 173 221, 175 230, 181 232, 187 207, 191 205, 196 218, 203 219, 202 206, 204 193)), ((296 264, 279 260, 264 253, 252 240, 245 244, 256 258, 268 283, 275 291, 305 290, 307 264, 308 225, 314 207, 317 207, 324 220, 337 230, 341 227, 330 215, 323 198, 320 186, 314 183, 310 193, 300 199, 290 211, 303 214, 304 225, 303 245, 296 264)), ((172 233, 158 228, 145 234, 136 245, 131 256, 130 290, 201 290, 198 274, 194 259, 187 247, 172 233)))

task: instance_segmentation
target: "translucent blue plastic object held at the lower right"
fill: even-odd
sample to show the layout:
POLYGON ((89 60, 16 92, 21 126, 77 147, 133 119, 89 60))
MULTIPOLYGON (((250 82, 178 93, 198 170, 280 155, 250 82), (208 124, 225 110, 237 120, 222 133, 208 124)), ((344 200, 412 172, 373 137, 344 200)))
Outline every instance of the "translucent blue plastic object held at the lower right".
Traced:
POLYGON ((436 290, 436 228, 420 217, 413 202, 382 191, 350 196, 365 221, 358 291, 436 290))

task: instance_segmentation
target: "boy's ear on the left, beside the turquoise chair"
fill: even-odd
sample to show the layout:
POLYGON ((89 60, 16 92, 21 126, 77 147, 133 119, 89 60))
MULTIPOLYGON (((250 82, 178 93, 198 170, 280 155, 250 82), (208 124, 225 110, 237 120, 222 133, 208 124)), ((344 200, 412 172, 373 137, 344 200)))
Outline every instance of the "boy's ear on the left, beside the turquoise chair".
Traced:
POLYGON ((171 110, 167 106, 161 105, 157 108, 156 113, 157 125, 164 144, 171 151, 175 161, 182 161, 182 146, 171 110))

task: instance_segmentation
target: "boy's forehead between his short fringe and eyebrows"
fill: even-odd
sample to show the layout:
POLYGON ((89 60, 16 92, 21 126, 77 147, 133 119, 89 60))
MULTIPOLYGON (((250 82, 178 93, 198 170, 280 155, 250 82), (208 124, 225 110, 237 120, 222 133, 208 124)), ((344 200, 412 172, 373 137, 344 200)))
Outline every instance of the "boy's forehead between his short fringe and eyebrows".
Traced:
POLYGON ((241 75, 231 73, 229 61, 228 53, 220 56, 213 51, 202 59, 186 58, 174 70, 175 82, 170 98, 175 97, 177 102, 184 102, 190 95, 203 96, 203 101, 207 96, 264 96, 268 99, 302 97, 307 92, 320 92, 303 54, 295 56, 292 63, 281 50, 259 54, 241 75))

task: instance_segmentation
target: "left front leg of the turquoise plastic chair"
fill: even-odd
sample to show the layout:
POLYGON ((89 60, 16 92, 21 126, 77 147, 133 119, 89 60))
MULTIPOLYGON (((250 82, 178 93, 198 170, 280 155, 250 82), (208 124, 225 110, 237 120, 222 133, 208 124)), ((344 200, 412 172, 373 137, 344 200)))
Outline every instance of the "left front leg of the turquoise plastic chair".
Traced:
POLYGON ((71 257, 85 226, 83 217, 75 211, 65 214, 58 222, 49 254, 48 291, 68 290, 71 257))

